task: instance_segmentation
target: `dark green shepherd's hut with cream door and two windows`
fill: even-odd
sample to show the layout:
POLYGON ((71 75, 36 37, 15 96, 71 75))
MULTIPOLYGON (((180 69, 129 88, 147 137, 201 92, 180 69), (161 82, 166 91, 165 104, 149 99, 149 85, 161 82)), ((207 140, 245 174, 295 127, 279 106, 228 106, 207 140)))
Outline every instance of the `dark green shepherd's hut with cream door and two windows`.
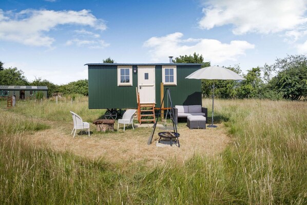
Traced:
MULTIPOLYGON (((160 107, 169 88, 172 104, 201 105, 201 80, 185 79, 193 63, 88 63, 89 109, 160 107), (163 83, 163 84, 161 84, 163 83), (140 100, 138 102, 137 92, 140 100)), ((164 107, 170 105, 164 104, 164 107)))

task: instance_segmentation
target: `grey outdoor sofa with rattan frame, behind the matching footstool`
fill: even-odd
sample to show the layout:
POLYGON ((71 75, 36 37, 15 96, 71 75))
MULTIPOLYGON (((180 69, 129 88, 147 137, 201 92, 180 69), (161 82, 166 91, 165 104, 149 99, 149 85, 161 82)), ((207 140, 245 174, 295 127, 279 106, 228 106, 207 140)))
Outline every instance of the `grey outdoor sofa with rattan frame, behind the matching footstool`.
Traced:
POLYGON ((176 105, 174 107, 176 124, 178 124, 178 118, 187 118, 187 116, 204 116, 207 123, 208 108, 201 105, 176 105))

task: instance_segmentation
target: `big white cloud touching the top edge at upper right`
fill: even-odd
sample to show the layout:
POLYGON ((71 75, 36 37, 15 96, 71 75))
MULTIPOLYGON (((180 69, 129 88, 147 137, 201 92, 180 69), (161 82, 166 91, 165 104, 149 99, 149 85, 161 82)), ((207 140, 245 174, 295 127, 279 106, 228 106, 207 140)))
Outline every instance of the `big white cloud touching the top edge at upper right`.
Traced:
POLYGON ((234 34, 274 33, 307 22, 306 0, 210 0, 203 9, 200 28, 234 25, 234 34))

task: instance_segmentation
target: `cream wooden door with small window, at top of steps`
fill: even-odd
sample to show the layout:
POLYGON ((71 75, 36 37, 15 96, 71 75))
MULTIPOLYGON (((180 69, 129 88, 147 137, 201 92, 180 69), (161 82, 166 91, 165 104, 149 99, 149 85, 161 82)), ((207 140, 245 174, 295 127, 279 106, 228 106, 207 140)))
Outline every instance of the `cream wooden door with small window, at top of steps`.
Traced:
POLYGON ((155 66, 138 66, 140 103, 156 103, 155 66))

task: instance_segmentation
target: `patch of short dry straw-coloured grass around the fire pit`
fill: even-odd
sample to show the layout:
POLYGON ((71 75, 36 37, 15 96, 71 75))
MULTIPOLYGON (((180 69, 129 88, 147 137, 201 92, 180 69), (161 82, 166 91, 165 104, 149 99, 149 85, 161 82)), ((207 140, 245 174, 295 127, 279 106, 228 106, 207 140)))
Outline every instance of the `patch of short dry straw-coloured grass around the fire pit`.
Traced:
MULTIPOLYGON (((97 132, 95 125, 91 124, 91 135, 88 137, 85 131, 78 130, 75 138, 70 135, 73 127, 71 123, 48 122, 50 129, 39 131, 31 136, 25 136, 38 147, 47 146, 54 151, 72 152, 79 156, 90 159, 103 158, 112 163, 129 164, 131 162, 141 162, 146 165, 158 165, 176 159, 178 162, 188 160, 195 154, 214 156, 224 150, 231 141, 226 135, 223 124, 218 124, 218 128, 189 129, 186 123, 180 123, 178 133, 180 133, 180 148, 176 145, 172 147, 157 147, 158 133, 163 132, 157 127, 152 143, 147 145, 147 139, 152 132, 151 127, 136 127, 131 125, 126 132, 120 127, 119 131, 97 132), (80 132, 79 132, 80 131, 80 132)), ((117 128, 117 123, 114 124, 117 128)))

